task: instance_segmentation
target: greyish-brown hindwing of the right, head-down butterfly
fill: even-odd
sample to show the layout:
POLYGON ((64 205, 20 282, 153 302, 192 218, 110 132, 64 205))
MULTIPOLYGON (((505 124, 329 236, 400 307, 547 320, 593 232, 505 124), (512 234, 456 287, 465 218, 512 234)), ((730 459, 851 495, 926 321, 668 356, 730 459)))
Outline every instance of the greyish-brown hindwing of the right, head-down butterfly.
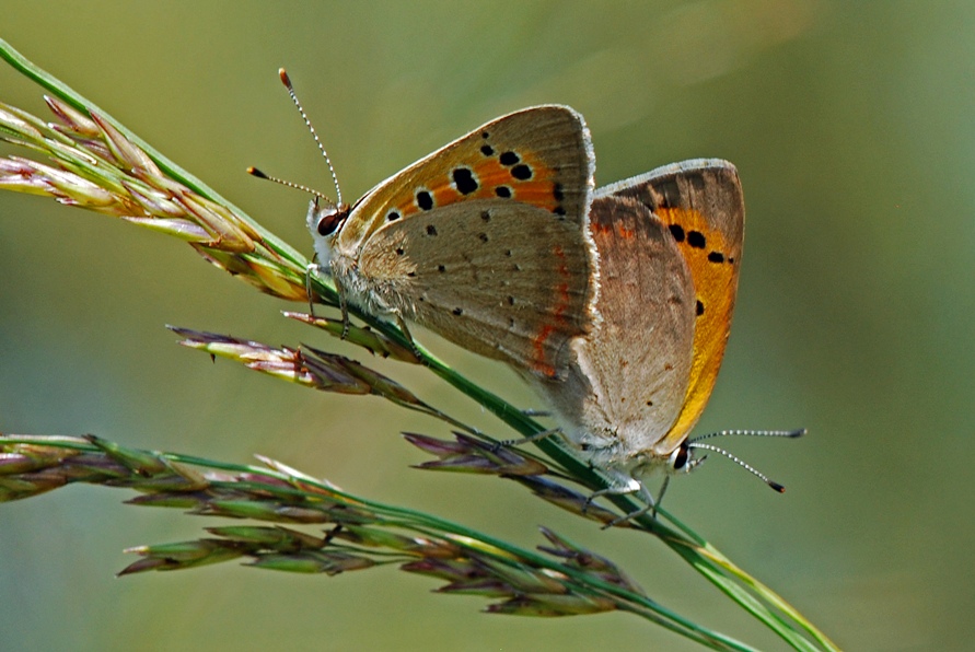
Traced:
POLYGON ((676 420, 694 338, 693 282, 666 226, 635 198, 593 201, 601 323, 573 342, 565 382, 536 381, 593 449, 645 450, 676 420))

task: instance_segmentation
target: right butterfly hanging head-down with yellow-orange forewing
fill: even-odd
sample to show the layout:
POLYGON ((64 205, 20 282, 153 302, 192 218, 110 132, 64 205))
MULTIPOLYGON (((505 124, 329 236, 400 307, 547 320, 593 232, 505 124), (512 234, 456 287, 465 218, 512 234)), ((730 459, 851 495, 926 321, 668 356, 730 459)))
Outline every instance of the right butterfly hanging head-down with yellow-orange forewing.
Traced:
POLYGON ((639 492, 652 505, 648 473, 694 467, 687 434, 724 356, 744 218, 738 173, 720 160, 596 190, 602 323, 572 341, 565 381, 529 380, 565 435, 606 474, 603 492, 639 492))

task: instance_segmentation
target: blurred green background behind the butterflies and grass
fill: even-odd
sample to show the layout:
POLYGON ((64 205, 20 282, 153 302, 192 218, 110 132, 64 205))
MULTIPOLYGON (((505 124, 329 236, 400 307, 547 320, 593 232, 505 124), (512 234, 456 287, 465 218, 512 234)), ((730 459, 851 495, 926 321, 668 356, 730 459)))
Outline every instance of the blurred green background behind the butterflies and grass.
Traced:
MULTIPOLYGON (((504 112, 588 119, 600 185, 695 156, 741 172, 738 313, 698 431, 788 487, 712 461, 666 507, 850 650, 973 637, 975 5, 971 2, 8 3, 2 35, 299 249, 329 190, 278 82, 286 66, 345 194, 504 112)), ((43 112, 7 68, 0 98, 43 112)), ((9 151, 9 150, 4 150, 9 151)), ((0 430, 94 432, 235 462, 270 455, 350 491, 523 545, 546 524, 651 596, 762 649, 777 638, 663 546, 600 532, 513 484, 410 470, 398 436, 445 435, 378 398, 323 395, 178 348, 177 324, 345 348, 187 246, 0 194, 0 430)), ((300 306, 299 306, 300 307, 300 306)), ((463 373, 538 407, 500 364, 419 331, 463 373)), ((358 353, 357 353, 358 354, 358 353)), ((375 362, 462 419, 503 428, 421 370, 375 362)), ((90 487, 0 507, 9 650, 689 649, 635 617, 487 616, 390 569, 334 579, 224 564, 116 581, 121 549, 219 524, 90 487)))

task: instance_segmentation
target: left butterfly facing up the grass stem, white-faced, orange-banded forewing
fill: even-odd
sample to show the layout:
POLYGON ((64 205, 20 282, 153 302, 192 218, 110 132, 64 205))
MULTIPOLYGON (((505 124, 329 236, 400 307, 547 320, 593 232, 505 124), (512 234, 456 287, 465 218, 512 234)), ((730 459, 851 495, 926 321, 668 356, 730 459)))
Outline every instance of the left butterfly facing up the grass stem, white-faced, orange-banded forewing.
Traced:
POLYGON ((471 351, 557 377, 569 340, 596 322, 594 167, 573 109, 508 114, 351 206, 312 201, 318 270, 369 314, 413 319, 471 351))

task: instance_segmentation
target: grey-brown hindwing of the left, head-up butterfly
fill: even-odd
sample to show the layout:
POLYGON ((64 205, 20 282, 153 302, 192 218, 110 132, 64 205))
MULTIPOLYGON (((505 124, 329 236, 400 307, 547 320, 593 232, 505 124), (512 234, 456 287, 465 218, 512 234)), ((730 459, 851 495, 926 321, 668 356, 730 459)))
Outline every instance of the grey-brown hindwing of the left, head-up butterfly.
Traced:
POLYGON ((519 202, 475 199, 390 224, 362 249, 363 278, 407 318, 544 377, 590 327, 591 242, 519 202))

